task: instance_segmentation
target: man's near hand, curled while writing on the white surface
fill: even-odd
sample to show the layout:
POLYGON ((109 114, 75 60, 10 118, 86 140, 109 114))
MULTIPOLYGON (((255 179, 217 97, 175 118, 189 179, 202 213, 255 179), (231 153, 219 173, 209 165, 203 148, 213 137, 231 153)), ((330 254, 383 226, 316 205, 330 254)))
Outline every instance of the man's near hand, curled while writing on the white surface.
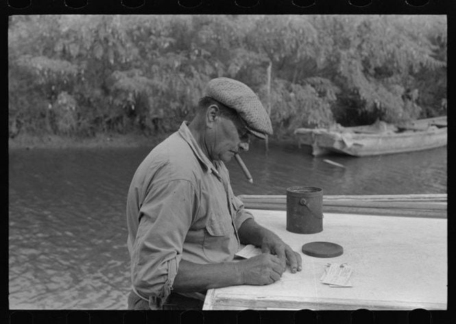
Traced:
POLYGON ((276 282, 285 271, 285 264, 271 254, 260 254, 248 260, 237 262, 242 274, 242 283, 248 285, 268 285, 276 282))

